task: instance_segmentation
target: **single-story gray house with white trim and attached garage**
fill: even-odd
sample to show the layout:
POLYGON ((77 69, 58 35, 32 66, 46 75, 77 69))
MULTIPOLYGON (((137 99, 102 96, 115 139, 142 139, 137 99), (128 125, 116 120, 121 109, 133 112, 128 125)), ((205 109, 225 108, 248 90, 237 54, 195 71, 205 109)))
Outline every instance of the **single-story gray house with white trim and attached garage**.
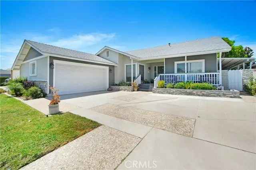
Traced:
POLYGON ((59 94, 107 90, 124 81, 159 80, 166 83, 192 80, 222 85, 221 54, 231 47, 220 37, 197 39, 134 51, 103 47, 89 54, 24 40, 12 71, 49 87, 59 94), (219 58, 218 58, 219 56, 219 58))

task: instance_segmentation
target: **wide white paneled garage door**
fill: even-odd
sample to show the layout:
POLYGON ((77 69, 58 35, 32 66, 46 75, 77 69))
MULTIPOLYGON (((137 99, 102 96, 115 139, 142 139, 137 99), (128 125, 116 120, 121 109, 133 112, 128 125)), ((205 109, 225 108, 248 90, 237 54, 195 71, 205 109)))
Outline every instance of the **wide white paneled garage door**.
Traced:
POLYGON ((54 60, 54 84, 59 94, 107 90, 108 67, 54 60))

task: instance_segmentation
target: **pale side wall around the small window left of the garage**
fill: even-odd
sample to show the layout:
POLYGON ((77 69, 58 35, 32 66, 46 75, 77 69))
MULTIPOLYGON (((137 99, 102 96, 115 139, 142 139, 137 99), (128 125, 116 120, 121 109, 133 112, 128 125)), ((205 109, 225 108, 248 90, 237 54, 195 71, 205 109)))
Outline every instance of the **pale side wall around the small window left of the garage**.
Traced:
POLYGON ((29 75, 29 63, 20 65, 20 76, 27 77, 28 80, 47 80, 47 57, 37 59, 36 61, 36 76, 29 75))

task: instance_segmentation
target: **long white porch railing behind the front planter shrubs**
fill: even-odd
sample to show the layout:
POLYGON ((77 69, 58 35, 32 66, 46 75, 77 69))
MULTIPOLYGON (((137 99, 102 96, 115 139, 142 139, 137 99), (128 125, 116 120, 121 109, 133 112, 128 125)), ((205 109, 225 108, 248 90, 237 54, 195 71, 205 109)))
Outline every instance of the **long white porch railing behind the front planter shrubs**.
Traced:
POLYGON ((154 79, 154 87, 157 87, 158 81, 164 80, 167 83, 179 83, 191 81, 194 83, 206 82, 218 86, 220 78, 218 72, 209 73, 184 73, 184 74, 159 74, 154 79))

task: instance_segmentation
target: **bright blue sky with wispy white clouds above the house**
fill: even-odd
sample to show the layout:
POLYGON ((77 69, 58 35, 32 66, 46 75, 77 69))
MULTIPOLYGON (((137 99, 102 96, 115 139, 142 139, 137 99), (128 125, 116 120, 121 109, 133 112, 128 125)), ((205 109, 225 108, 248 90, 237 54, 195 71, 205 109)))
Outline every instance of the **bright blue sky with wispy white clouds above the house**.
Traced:
POLYGON ((213 36, 256 53, 255 1, 1 1, 1 68, 24 39, 96 53, 213 36))

